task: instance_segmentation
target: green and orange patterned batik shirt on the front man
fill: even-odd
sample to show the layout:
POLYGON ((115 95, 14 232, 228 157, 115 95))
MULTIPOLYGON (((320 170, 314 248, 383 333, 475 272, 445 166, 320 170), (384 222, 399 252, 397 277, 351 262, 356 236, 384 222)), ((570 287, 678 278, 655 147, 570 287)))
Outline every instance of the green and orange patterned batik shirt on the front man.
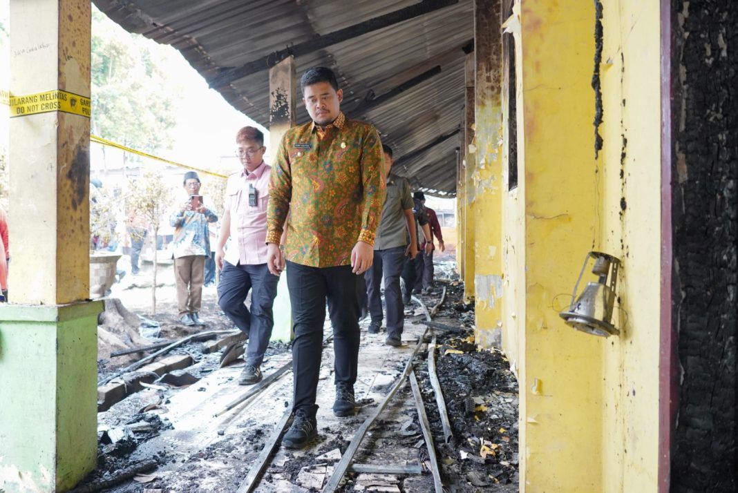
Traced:
POLYGON ((374 245, 386 186, 376 129, 339 113, 331 125, 292 127, 277 150, 266 208, 266 242, 310 267, 351 264, 357 241, 374 245))

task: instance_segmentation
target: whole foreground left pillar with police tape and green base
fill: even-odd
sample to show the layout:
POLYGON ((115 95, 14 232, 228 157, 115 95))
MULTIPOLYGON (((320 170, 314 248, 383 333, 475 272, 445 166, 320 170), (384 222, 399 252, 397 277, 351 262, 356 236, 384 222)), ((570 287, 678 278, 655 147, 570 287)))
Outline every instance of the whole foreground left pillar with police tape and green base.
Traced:
POLYGON ((10 300, 0 490, 63 491, 97 461, 89 297, 89 0, 10 2, 10 300))

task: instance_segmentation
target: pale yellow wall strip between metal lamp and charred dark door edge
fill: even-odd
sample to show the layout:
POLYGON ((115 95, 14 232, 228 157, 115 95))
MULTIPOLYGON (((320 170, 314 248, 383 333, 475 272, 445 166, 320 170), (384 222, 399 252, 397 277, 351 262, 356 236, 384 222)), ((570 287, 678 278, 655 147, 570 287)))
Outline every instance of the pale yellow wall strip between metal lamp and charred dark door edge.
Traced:
POLYGON ((604 491, 655 492, 661 265, 658 2, 603 2, 602 248, 623 264, 604 369, 604 491))

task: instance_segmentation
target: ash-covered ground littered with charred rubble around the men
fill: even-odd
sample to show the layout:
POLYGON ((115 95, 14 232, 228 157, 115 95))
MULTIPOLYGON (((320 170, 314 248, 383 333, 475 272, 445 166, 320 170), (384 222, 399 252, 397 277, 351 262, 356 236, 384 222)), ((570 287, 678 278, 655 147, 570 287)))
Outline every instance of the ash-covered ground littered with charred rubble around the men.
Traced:
MULTIPOLYGON (((438 331, 435 348, 436 374, 441 383, 453 433, 448 443, 445 443, 441 416, 428 377, 427 350, 419 352, 414 360, 415 373, 435 442, 435 451, 441 464, 441 478, 449 492, 515 492, 518 490, 517 381, 509 371, 506 357, 499 350, 477 350, 473 338, 474 306, 463 302, 463 284, 456 279, 453 249, 449 250, 444 255, 438 255, 437 252, 438 282, 433 293, 419 296, 431 307, 438 302, 442 288, 446 287, 446 301, 434 320, 461 329, 461 332, 438 331)), ((128 257, 123 256, 119 268, 129 270, 127 262, 128 257)), ((138 353, 125 357, 110 357, 111 351, 123 347, 146 346, 160 339, 176 340, 202 330, 233 329, 230 321, 218 309, 214 286, 204 288, 203 293, 201 318, 207 321, 207 327, 191 328, 179 324, 171 265, 159 266, 157 309, 156 312, 152 312, 151 270, 151 264, 144 264, 138 276, 124 276, 122 282, 114 285, 111 290, 111 297, 120 299, 123 309, 114 307, 116 310, 108 310, 107 315, 101 318, 98 361, 100 379, 143 356, 142 353, 138 353), (131 330, 139 315, 147 321, 159 324, 157 339, 142 338, 137 331, 131 330)), ((421 315, 415 315, 408 316, 406 328, 407 324, 418 323, 424 319, 421 315)), ((368 321, 362 324, 362 328, 365 329, 368 321)), ((154 332, 157 332, 155 327, 154 332)), ((224 369, 218 370, 220 354, 203 354, 201 351, 203 344, 189 343, 169 354, 189 354, 193 358, 193 366, 186 371, 197 379, 203 379, 201 382, 213 380, 216 375, 222 374, 221 381, 230 382, 229 385, 232 386, 232 380, 235 378, 233 375, 237 375, 237 371, 233 370, 229 374, 224 372, 224 369)), ((288 345, 270 344, 266 360, 276 362, 287 361, 289 358, 288 345)), ((400 371, 401 368, 396 370, 400 371)), ((201 382, 193 383, 190 392, 193 389, 210 392, 210 388, 201 382)), ((388 381, 386 389, 391 386, 391 382, 388 381)), ((227 434, 210 444, 199 443, 196 452, 182 454, 176 452, 176 447, 171 447, 169 442, 181 440, 182 443, 187 441, 196 443, 199 438, 177 435, 174 433, 176 430, 172 430, 172 422, 169 419, 171 410, 177 406, 186 406, 182 404, 182 399, 178 400, 177 397, 177 393, 182 392, 181 388, 167 385, 159 387, 161 388, 145 388, 99 414, 98 468, 86 478, 77 491, 235 492, 244 479, 241 471, 248 470, 249 464, 255 461, 284 409, 280 402, 279 410, 272 412, 275 415, 274 422, 265 422, 263 419, 260 421, 256 415, 253 419, 246 416, 246 419, 232 424, 243 433, 233 436, 227 434), (162 391, 162 388, 166 390, 162 391), (162 409, 167 408, 170 412, 162 414, 162 409), (114 436, 113 432, 120 430, 123 430, 123 438, 114 436), (163 442, 168 442, 166 447, 162 445, 163 442), (110 489, 106 490, 92 489, 94 485, 111 480, 126 469, 145 461, 153 461, 151 467, 139 472, 138 475, 131 475, 131 478, 135 476, 135 479, 116 480, 117 484, 111 485, 110 489)), ((382 386, 375 385, 374 390, 382 391, 382 386)), ((289 394, 289 388, 286 391, 289 394)), ((409 385, 402 388, 399 393, 408 393, 410 399, 412 398, 409 385)), ((373 404, 375 402, 365 402, 368 406, 373 404)), ((182 412, 183 416, 186 414, 182 412)), ((208 416, 211 416, 211 413, 201 413, 201 419, 206 422, 208 416)), ((375 444, 362 453, 372 455, 382 447, 392 447, 403 439, 413 443, 417 441, 420 436, 418 415, 413 411, 408 412, 408 416, 414 416, 412 424, 407 422, 403 425, 405 429, 398 432, 393 431, 384 435, 378 433, 375 444), (382 444, 382 440, 386 443, 382 444)), ((185 416, 183 419, 198 419, 198 416, 185 416)), ((362 419, 358 416, 349 419, 347 426, 349 428, 353 426, 355 429, 362 419)), ((219 430, 218 434, 221 434, 221 431, 219 430)), ((320 491, 320 485, 315 486, 306 480, 306 471, 323 468, 325 472, 325 464, 317 460, 317 457, 336 449, 341 453, 345 452, 351 439, 348 430, 330 431, 334 434, 326 435, 315 450, 309 453, 285 454, 281 451, 263 475, 265 486, 260 486, 255 491, 320 491)), ((421 462, 427 460, 427 452, 422 448, 413 453, 418 455, 421 462)), ((362 458, 359 454, 356 459, 366 457, 362 458)), ((430 491, 429 487, 432 489, 432 483, 427 482, 428 477, 429 475, 424 475, 425 479, 407 477, 392 483, 393 486, 367 487, 367 483, 362 483, 362 475, 348 473, 340 491, 424 492, 430 491)))

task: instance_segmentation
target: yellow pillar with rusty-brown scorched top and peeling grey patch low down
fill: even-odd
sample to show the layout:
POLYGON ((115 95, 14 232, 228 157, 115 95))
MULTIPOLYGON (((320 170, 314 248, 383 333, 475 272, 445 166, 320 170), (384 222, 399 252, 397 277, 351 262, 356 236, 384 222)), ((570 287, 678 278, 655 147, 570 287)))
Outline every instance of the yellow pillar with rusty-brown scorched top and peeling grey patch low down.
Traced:
POLYGON ((500 0, 476 0, 475 31, 475 340, 500 346, 502 335, 502 44, 500 0))

